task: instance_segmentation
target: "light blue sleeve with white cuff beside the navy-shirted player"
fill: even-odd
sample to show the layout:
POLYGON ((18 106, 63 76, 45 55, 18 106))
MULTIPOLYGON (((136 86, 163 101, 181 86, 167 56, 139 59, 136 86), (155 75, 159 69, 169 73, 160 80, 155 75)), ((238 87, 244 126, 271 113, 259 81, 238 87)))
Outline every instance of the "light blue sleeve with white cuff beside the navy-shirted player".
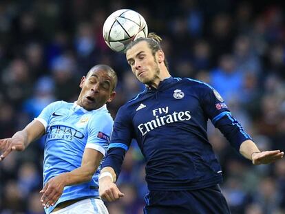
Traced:
POLYGON ((87 127, 87 143, 85 148, 100 151, 105 156, 113 129, 113 119, 109 114, 95 115, 87 127))

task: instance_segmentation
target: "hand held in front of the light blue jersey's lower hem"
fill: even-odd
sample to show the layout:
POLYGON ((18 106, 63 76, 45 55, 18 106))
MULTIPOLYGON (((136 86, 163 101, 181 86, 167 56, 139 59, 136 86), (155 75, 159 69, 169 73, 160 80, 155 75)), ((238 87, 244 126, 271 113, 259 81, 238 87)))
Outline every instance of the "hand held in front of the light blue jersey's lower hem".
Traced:
POLYGON ((41 203, 45 207, 54 206, 54 204, 59 200, 59 197, 63 194, 63 189, 65 186, 65 175, 57 175, 56 177, 50 179, 40 193, 43 193, 41 196, 41 203))

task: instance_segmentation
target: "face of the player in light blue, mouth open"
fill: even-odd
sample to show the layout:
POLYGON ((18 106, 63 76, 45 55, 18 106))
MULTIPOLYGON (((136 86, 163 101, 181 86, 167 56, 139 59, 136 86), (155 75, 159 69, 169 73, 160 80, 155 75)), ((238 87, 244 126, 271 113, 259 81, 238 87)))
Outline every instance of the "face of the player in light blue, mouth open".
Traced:
POLYGON ((95 68, 86 77, 83 76, 80 87, 81 94, 77 104, 89 111, 111 102, 116 94, 116 92, 112 92, 114 79, 101 68, 95 68))

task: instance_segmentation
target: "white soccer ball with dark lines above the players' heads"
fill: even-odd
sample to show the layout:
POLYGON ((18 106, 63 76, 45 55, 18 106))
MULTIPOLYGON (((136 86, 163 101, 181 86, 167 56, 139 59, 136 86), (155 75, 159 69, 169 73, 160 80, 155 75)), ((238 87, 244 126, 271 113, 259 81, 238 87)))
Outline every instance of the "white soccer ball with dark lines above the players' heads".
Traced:
POLYGON ((125 50, 127 44, 139 37, 147 37, 145 19, 136 11, 116 10, 103 25, 103 37, 107 45, 116 52, 125 50))

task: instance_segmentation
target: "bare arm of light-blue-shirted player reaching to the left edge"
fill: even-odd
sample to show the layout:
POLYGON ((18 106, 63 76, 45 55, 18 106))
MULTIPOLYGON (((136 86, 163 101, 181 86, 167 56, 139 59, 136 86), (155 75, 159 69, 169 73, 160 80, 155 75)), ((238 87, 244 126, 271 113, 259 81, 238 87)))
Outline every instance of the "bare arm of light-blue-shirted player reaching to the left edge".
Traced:
POLYGON ((31 142, 40 138, 45 133, 45 127, 39 120, 33 120, 25 129, 14 133, 12 138, 0 140, 0 161, 6 158, 11 151, 23 151, 31 142))

